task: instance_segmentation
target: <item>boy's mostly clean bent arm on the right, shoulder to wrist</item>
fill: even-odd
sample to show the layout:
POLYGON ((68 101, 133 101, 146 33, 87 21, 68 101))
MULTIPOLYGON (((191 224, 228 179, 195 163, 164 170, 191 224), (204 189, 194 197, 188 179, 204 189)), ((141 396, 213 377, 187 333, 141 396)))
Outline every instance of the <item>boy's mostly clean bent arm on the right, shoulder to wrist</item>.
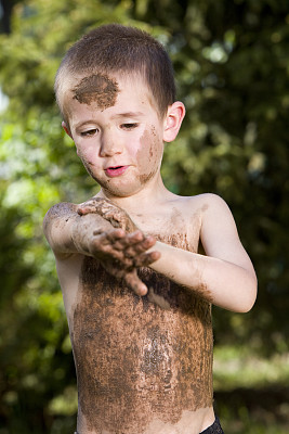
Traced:
POLYGON ((206 255, 157 242, 160 259, 150 268, 192 289, 214 305, 246 312, 254 304, 257 277, 242 247, 234 218, 223 200, 207 195, 200 239, 206 255))

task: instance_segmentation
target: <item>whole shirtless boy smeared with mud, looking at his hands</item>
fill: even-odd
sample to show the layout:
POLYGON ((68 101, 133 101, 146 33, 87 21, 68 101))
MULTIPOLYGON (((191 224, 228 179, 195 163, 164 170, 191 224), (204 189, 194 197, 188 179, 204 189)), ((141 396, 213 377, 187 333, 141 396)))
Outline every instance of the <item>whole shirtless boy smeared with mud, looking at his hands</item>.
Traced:
POLYGON ((223 200, 162 183, 163 143, 185 115, 168 55, 141 30, 98 27, 67 52, 55 90, 63 127, 101 186, 43 224, 74 349, 77 432, 222 433, 211 304, 248 311, 257 279, 223 200))

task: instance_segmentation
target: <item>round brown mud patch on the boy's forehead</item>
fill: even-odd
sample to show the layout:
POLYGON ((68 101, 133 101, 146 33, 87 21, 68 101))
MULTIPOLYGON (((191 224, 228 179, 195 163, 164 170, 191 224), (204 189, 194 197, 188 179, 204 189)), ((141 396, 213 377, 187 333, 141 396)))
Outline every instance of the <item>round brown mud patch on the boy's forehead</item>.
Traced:
POLYGON ((117 81, 107 75, 93 74, 82 78, 73 93, 80 104, 96 103, 101 110, 105 110, 115 105, 119 88, 117 81))

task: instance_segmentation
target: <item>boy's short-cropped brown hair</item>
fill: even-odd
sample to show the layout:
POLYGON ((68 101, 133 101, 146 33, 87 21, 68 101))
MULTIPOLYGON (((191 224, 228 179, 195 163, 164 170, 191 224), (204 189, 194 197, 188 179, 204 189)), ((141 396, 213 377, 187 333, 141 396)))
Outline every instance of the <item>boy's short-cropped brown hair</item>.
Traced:
POLYGON ((140 75, 152 91, 160 117, 175 101, 173 67, 168 53, 161 43, 135 27, 103 25, 84 35, 67 51, 54 86, 65 120, 64 95, 69 79, 94 73, 140 75))

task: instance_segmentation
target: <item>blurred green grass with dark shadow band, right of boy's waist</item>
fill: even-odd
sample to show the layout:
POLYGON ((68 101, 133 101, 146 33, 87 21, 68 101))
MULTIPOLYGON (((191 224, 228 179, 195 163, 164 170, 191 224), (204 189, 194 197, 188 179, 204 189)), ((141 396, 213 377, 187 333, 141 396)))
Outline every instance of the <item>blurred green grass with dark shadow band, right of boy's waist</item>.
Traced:
POLYGON ((214 352, 215 408, 225 433, 289 433, 289 354, 261 358, 251 348, 214 352))

